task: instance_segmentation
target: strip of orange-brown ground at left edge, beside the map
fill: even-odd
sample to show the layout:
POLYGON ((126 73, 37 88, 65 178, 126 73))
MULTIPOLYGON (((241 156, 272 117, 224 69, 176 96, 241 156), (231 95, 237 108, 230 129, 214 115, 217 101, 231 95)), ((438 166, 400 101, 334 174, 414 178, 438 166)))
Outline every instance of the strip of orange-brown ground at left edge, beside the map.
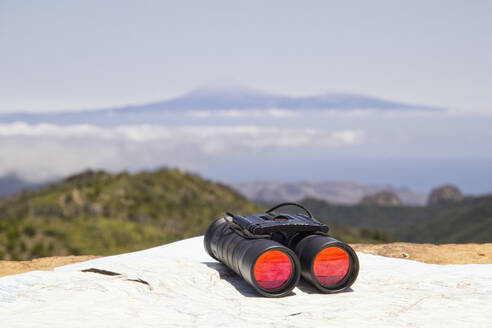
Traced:
POLYGON ((34 270, 52 270, 53 268, 92 260, 99 256, 53 256, 42 257, 32 261, 0 261, 0 277, 34 270))

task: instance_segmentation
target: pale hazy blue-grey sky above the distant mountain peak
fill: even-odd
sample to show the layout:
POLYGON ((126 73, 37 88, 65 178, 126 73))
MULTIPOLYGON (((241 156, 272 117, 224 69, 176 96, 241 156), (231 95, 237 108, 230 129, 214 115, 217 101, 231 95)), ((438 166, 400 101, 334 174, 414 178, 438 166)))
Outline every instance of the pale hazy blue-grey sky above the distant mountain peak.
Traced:
POLYGON ((0 111, 210 83, 492 112, 492 1, 0 0, 0 111))

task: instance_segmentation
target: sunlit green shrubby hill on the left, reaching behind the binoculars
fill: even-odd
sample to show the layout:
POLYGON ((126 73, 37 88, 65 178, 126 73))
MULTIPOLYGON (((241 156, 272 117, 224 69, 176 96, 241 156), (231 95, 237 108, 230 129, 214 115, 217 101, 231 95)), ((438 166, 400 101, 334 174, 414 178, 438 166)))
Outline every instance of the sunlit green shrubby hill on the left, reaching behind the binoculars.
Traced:
MULTIPOLYGON (((86 171, 0 200, 0 260, 131 252, 201 235, 225 211, 264 210, 226 185, 175 169, 86 171)), ((386 240, 330 227, 346 241, 386 240)))

